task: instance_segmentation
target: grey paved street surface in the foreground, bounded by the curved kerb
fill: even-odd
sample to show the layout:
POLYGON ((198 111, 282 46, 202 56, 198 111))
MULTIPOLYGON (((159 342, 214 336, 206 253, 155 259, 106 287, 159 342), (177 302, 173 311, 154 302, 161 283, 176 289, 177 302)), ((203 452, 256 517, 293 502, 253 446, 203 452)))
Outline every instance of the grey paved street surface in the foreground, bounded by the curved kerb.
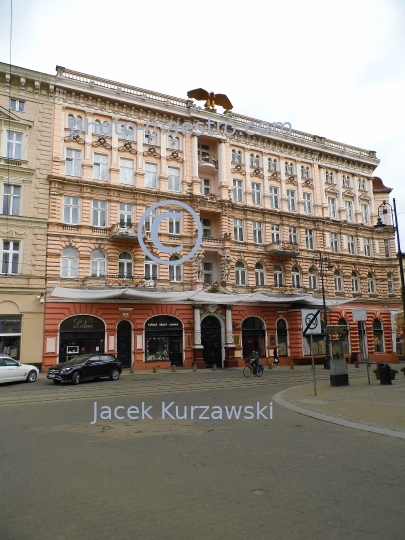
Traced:
POLYGON ((299 370, 282 375, 272 370, 270 384, 266 370, 262 380, 238 387, 229 380, 242 381, 240 370, 198 375, 200 386, 188 383, 187 391, 177 388, 180 378, 194 375, 157 374, 160 380, 151 383, 149 375, 124 375, 118 383, 77 388, 49 387, 42 379, 1 387, 2 398, 21 399, 0 406, 1 540, 402 540, 403 440, 320 422, 275 403, 272 420, 161 418, 161 403, 171 401, 181 410, 264 407, 307 376, 299 370), (212 382, 219 380, 227 385, 212 382), (149 393, 141 383, 150 384, 149 393), (164 384, 172 385, 170 392, 164 384), (121 394, 126 386, 143 390, 121 394), (99 397, 96 387, 108 387, 108 394, 99 397), (75 392, 74 399, 47 402, 47 390, 75 392), (25 391, 29 403, 22 402, 25 391), (99 408, 143 401, 156 411, 154 419, 91 425, 95 396, 99 408))

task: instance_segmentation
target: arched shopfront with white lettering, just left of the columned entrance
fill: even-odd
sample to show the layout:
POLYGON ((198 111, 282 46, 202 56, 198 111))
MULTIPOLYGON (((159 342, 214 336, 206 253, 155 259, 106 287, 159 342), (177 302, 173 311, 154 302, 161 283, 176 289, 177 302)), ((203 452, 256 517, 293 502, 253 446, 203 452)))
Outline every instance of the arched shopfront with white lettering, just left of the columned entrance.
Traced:
POLYGON ((179 319, 169 315, 157 315, 146 321, 145 362, 183 365, 183 329, 179 319))

